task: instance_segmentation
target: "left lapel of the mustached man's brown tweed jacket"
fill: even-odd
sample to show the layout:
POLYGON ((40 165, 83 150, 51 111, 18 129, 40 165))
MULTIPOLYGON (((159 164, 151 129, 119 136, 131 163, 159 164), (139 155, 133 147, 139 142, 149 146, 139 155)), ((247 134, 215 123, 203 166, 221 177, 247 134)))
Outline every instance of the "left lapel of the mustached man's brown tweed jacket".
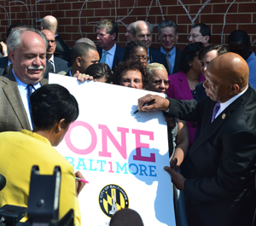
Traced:
POLYGON ((5 77, 8 79, 3 79, 3 82, 6 84, 3 86, 3 92, 9 101, 9 104, 13 107, 22 128, 31 128, 13 73, 9 72, 7 75, 5 75, 5 77))

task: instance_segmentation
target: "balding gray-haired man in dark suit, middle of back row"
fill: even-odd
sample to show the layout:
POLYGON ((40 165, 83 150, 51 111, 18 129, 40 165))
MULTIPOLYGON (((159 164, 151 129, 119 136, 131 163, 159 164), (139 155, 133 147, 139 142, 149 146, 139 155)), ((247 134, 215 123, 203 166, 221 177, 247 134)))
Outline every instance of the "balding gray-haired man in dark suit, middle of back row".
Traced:
POLYGON ((150 48, 153 32, 152 26, 148 22, 137 20, 132 24, 130 32, 132 40, 143 41, 148 48, 148 63, 160 63, 166 67, 168 74, 170 74, 166 56, 160 53, 160 51, 150 48))

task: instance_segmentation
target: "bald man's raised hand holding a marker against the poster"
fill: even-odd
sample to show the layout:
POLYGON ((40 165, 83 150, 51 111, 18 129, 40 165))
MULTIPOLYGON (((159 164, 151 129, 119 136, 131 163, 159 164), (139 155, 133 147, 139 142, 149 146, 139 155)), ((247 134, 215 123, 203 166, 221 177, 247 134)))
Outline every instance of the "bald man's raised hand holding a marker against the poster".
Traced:
POLYGON ((163 98, 158 95, 148 94, 147 96, 143 96, 140 99, 138 99, 137 108, 141 109, 143 107, 141 110, 143 112, 167 111, 169 109, 169 104, 170 102, 166 98, 163 98), (143 104, 146 104, 148 103, 148 101, 151 101, 153 99, 155 99, 154 103, 143 107, 143 104))

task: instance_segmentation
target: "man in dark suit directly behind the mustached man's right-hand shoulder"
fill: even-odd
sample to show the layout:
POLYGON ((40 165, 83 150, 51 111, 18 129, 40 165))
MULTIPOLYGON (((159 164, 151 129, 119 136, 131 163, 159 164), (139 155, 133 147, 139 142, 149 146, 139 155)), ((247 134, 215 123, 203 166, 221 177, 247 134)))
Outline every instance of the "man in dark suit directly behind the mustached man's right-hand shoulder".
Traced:
POLYGON ((70 67, 71 65, 69 62, 64 61, 63 59, 54 55, 56 48, 55 35, 47 29, 42 30, 42 32, 45 34, 46 40, 48 41, 46 60, 52 64, 54 67, 54 72, 58 73, 67 67, 70 67))

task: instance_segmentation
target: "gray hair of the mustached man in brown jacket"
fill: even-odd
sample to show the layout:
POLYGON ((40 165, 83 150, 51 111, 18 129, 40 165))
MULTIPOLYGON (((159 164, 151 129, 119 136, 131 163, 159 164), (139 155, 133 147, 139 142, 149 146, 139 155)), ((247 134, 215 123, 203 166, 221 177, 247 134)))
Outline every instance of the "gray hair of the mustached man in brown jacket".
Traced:
POLYGON ((29 27, 29 28, 17 27, 15 29, 13 29, 12 32, 10 32, 10 34, 9 34, 9 38, 7 41, 8 56, 9 56, 9 51, 15 51, 15 49, 20 48, 21 36, 24 32, 37 33, 39 36, 41 36, 44 39, 45 49, 47 49, 48 41, 46 40, 44 33, 40 32, 32 27, 29 27))

